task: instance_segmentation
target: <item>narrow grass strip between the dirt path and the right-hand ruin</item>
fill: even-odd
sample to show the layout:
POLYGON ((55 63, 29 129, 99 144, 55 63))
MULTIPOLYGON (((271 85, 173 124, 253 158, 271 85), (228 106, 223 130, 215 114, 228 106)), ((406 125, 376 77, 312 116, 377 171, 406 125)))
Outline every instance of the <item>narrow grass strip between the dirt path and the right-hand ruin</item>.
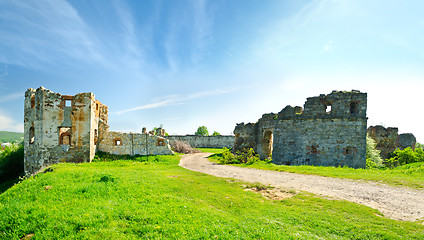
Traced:
MULTIPOLYGON (((209 159, 219 162, 221 153, 214 150, 209 159)), ((424 189, 424 162, 411 163, 394 169, 354 169, 348 167, 316 167, 316 166, 288 166, 276 165, 267 162, 253 164, 235 164, 238 167, 256 168, 262 170, 312 174, 325 177, 346 178, 386 183, 395 186, 406 186, 415 189, 424 189)))

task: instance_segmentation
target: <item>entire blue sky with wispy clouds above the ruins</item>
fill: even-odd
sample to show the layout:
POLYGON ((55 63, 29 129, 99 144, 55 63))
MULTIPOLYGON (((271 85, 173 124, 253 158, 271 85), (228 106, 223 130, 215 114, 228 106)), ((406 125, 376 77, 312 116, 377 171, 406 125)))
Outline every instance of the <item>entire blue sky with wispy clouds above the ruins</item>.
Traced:
POLYGON ((332 90, 424 142, 424 1, 0 0, 0 130, 23 94, 93 92, 111 130, 231 134, 332 90))

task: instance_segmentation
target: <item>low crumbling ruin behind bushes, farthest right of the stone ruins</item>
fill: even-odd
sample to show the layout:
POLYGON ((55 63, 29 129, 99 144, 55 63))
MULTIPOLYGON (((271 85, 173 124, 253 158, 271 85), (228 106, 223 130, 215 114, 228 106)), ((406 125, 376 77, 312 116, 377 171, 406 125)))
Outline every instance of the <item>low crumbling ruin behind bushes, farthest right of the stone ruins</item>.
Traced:
POLYGON ((396 149, 405 149, 407 147, 415 150, 417 140, 412 133, 398 134, 398 128, 385 128, 381 125, 370 126, 367 130, 368 136, 376 142, 375 148, 380 150, 380 156, 388 159, 396 149))

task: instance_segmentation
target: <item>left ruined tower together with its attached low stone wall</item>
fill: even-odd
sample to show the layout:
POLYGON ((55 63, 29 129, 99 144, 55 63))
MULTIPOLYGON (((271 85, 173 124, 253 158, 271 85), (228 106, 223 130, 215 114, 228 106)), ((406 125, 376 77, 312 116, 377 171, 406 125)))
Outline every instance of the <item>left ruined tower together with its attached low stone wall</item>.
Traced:
POLYGON ((26 175, 54 163, 91 162, 96 151, 173 154, 163 137, 109 131, 108 108, 93 93, 70 96, 30 88, 25 92, 24 111, 26 175))

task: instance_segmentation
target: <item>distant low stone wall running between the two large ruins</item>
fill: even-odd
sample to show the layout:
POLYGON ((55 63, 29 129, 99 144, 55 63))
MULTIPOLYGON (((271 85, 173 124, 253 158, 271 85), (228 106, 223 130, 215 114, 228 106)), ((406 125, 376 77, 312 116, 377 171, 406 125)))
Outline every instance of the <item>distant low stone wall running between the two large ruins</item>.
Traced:
POLYGON ((173 141, 188 142, 195 148, 231 148, 234 146, 235 137, 232 135, 198 136, 198 135, 170 135, 166 136, 172 145, 173 141))

